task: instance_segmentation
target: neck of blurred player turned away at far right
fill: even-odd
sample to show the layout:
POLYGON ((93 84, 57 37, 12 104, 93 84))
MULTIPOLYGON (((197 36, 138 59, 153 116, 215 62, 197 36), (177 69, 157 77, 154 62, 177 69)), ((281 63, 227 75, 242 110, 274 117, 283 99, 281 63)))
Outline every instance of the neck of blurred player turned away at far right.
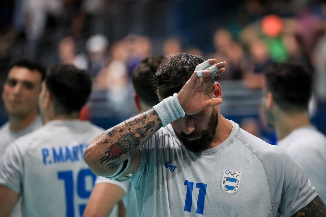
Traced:
POLYGON ((299 127, 311 125, 307 112, 280 113, 276 119, 275 130, 277 140, 284 139, 299 127))

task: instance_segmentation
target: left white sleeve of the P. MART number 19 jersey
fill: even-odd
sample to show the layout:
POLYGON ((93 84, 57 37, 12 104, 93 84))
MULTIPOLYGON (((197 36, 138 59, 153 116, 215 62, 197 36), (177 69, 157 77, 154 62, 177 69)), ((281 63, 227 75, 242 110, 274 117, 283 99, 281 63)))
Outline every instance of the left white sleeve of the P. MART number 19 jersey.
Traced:
POLYGON ((0 184, 12 189, 14 192, 22 192, 23 160, 15 142, 5 150, 0 163, 0 184))

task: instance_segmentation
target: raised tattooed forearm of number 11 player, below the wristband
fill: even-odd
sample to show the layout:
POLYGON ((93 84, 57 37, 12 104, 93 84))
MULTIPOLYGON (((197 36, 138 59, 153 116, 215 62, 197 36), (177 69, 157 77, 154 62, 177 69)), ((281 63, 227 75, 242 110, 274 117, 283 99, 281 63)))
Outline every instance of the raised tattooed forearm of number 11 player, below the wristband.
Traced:
POLYGON ((117 165, 133 156, 161 126, 154 109, 132 117, 96 137, 85 150, 85 161, 95 174, 109 176, 117 165))

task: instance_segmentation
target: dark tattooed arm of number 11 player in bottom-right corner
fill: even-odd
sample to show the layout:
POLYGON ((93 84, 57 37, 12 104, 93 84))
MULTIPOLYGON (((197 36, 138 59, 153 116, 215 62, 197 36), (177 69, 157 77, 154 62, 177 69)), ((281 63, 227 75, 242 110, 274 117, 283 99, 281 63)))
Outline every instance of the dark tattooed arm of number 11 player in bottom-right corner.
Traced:
POLYGON ((296 212, 292 217, 325 217, 326 206, 319 196, 315 197, 306 207, 296 212))

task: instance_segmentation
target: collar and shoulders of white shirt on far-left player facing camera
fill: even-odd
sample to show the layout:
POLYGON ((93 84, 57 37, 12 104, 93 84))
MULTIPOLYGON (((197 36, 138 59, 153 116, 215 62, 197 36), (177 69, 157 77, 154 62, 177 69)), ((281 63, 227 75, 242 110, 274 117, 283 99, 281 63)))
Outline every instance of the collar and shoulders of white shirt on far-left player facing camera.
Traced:
MULTIPOLYGON (((30 133, 33 130, 36 130, 42 126, 42 120, 39 116, 37 116, 30 125, 28 125, 26 128, 18 131, 18 132, 12 132, 9 129, 9 121, 7 121, 4 125, 0 128, 0 155, 3 154, 6 147, 13 142, 18 137, 25 135, 26 133, 30 133)), ((1 157, 0 157, 1 161, 1 157)))

